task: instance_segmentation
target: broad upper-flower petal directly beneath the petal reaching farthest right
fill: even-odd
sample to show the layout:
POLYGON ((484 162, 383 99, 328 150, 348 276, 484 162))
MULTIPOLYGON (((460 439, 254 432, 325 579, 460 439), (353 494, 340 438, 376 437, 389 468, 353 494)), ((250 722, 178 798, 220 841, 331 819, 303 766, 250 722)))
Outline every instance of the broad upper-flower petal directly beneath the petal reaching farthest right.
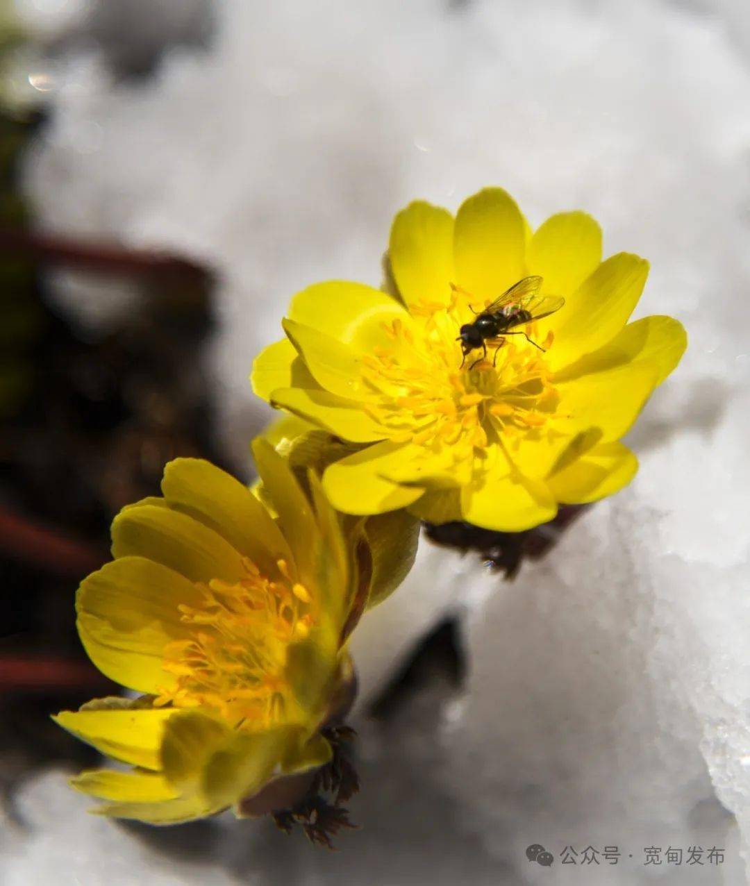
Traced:
POLYGON ((620 439, 644 408, 657 378, 656 367, 643 361, 559 384, 554 424, 571 435, 599 428, 603 443, 620 439))

